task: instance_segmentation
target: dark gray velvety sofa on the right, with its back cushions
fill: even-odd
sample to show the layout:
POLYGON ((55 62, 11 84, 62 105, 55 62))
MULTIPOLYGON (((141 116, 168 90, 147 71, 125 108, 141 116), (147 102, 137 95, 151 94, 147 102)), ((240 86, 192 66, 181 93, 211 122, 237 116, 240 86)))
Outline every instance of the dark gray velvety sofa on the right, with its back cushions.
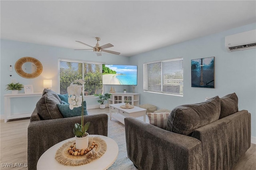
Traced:
POLYGON ((139 170, 231 170, 251 145, 251 115, 235 93, 182 105, 166 129, 124 119, 128 158, 139 170))

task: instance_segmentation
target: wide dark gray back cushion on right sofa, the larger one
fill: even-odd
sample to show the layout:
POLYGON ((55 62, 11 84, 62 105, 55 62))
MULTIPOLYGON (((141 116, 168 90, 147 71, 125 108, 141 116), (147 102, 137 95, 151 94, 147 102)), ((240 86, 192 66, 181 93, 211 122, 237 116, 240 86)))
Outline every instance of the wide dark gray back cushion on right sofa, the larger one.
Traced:
POLYGON ((168 117, 166 130, 190 136, 204 125, 217 121, 220 117, 220 98, 175 107, 168 117))

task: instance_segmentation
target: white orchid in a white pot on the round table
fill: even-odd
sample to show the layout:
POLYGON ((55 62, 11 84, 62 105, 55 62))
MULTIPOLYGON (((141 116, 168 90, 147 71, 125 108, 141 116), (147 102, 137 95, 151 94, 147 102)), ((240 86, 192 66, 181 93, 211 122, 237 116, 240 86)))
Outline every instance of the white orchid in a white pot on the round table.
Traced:
POLYGON ((84 80, 82 79, 76 79, 74 80, 70 86, 68 87, 68 103, 70 103, 69 108, 71 110, 74 109, 74 107, 82 107, 82 113, 81 113, 81 125, 79 123, 76 123, 74 125, 73 132, 76 136, 76 148, 77 149, 86 149, 88 148, 88 142, 89 137, 88 133, 86 132, 90 126, 90 122, 87 122, 84 125, 84 97, 80 97, 80 94, 83 91, 83 84, 84 80), (74 84, 76 83, 76 84, 74 84), (77 84, 78 83, 78 84, 77 84), (82 84, 82 85, 80 85, 82 84))

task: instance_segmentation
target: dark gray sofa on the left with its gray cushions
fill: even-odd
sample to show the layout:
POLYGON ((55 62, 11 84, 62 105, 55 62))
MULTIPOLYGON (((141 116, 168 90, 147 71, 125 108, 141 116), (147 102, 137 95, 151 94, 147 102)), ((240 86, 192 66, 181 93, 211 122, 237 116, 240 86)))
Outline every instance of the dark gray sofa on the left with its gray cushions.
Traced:
MULTIPOLYGON (((58 110, 60 99, 54 91, 45 89, 30 117, 28 125, 28 170, 36 170, 40 156, 54 144, 74 137, 75 123, 81 116, 64 118, 58 110)), ((108 136, 108 115, 85 115, 84 123, 91 122, 89 134, 108 136)))

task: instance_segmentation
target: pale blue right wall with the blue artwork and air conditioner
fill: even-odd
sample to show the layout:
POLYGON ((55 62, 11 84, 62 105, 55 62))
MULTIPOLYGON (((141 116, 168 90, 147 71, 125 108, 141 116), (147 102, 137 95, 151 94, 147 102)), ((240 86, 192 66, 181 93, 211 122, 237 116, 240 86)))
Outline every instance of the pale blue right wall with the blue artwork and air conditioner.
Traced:
POLYGON ((218 34, 171 45, 130 58, 138 65, 137 91, 140 103, 151 103, 159 108, 173 109, 182 104, 204 101, 206 97, 223 97, 235 92, 238 109, 252 114, 252 136, 256 136, 256 49, 228 52, 225 36, 256 29, 250 24, 218 34), (215 57, 215 89, 191 87, 191 59, 215 57), (176 57, 184 58, 184 97, 143 92, 143 63, 176 57))

